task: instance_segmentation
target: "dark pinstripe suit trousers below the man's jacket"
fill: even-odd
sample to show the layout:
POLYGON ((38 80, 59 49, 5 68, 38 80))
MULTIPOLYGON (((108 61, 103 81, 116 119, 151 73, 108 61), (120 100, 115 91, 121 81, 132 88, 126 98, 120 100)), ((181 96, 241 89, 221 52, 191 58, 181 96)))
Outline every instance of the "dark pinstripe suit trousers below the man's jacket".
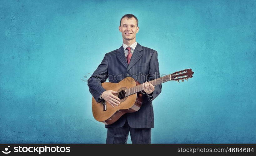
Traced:
POLYGON ((131 128, 126 121, 123 127, 108 128, 107 144, 126 144, 128 135, 133 144, 151 144, 151 128, 131 128))

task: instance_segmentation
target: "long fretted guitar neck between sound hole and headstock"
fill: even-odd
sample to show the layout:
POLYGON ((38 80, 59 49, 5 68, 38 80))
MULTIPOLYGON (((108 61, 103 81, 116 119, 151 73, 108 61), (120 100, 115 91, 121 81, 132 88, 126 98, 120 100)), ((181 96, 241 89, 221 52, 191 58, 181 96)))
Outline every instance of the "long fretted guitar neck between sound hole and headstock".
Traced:
MULTIPOLYGON (((169 74, 167 76, 159 77, 158 79, 149 81, 148 83, 151 83, 153 86, 160 85, 160 84, 162 84, 164 82, 167 82, 167 81, 171 80, 170 76, 171 75, 169 74)), ((143 90, 142 84, 141 85, 136 85, 136 86, 134 86, 132 88, 126 89, 125 90, 125 92, 126 92, 125 96, 133 95, 133 94, 138 93, 138 92, 140 92, 142 90, 143 90)))

